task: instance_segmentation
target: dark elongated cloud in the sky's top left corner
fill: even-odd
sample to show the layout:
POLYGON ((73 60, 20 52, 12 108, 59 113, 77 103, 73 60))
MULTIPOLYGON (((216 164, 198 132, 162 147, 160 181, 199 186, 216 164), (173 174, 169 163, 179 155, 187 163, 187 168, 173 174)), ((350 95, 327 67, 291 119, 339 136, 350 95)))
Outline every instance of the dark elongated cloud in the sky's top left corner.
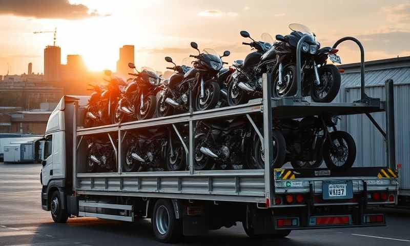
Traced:
POLYGON ((101 16, 96 10, 91 10, 83 4, 70 4, 68 0, 0 0, 0 15, 5 14, 47 19, 101 16))

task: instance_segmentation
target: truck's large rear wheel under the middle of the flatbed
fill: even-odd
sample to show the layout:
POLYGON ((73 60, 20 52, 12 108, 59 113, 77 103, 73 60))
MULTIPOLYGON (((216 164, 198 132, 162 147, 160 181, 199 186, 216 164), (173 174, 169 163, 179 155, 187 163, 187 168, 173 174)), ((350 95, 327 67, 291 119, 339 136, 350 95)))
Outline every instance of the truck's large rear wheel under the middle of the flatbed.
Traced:
POLYGON ((175 218, 170 200, 159 199, 155 203, 151 222, 155 237, 160 242, 176 242, 182 236, 182 220, 175 218))

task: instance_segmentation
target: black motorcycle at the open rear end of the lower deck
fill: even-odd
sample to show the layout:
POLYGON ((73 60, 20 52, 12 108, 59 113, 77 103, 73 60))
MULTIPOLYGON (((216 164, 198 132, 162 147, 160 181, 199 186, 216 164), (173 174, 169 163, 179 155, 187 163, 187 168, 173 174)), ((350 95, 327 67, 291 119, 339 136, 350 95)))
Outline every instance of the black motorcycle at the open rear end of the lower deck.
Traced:
POLYGON ((327 168, 334 171, 351 168, 356 159, 356 144, 350 134, 337 130, 337 122, 337 116, 277 120, 275 126, 286 140, 286 161, 291 161, 293 168, 318 168, 323 159, 327 168))

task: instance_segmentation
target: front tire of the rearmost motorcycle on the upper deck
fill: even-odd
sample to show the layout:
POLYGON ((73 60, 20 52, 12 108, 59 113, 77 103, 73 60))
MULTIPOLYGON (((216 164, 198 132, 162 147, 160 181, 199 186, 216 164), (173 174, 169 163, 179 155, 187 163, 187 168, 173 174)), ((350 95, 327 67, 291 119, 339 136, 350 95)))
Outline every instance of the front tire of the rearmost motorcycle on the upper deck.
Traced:
POLYGON ((317 86, 315 83, 311 85, 312 100, 317 103, 330 103, 336 98, 340 89, 340 71, 335 65, 325 65, 319 68, 320 84, 326 83, 324 86, 317 86), (330 83, 330 85, 329 85, 330 83), (320 93, 327 92, 325 96, 320 93))

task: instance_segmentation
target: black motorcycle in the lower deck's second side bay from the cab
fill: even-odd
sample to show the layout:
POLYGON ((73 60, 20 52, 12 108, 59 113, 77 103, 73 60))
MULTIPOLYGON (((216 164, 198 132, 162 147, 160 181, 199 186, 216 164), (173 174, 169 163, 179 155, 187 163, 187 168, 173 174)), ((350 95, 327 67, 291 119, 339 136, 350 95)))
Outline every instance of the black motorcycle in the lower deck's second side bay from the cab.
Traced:
POLYGON ((124 172, 185 170, 185 148, 172 131, 168 127, 142 129, 128 137, 124 172))

